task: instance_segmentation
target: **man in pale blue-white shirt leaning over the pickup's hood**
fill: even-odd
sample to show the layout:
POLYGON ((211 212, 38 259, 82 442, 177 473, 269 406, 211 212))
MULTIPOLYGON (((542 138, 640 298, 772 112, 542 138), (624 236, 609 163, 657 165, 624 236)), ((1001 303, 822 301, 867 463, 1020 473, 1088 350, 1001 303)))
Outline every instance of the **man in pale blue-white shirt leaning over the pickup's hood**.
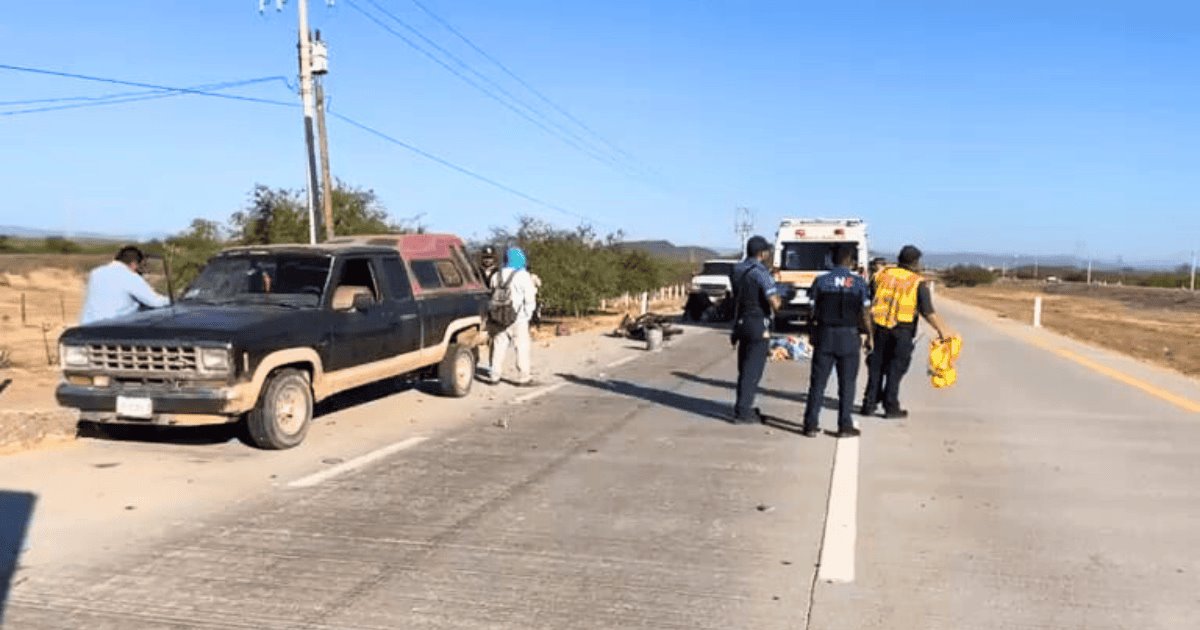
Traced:
POLYGON ((122 247, 116 259, 88 275, 88 293, 83 302, 82 325, 113 319, 142 308, 162 308, 170 300, 155 292, 142 277, 145 256, 137 247, 122 247))

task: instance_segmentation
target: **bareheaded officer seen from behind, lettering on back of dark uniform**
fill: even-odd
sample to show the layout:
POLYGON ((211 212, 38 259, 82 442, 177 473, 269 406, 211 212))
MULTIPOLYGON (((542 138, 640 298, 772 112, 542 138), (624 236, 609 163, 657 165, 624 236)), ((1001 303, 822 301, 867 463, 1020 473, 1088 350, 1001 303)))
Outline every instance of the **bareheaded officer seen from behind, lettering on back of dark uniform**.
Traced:
POLYGON ((840 245, 834 251, 833 271, 818 277, 809 289, 812 301, 812 323, 809 341, 812 343, 812 366, 809 397, 804 408, 804 436, 816 437, 821 407, 824 402, 829 373, 838 368, 838 437, 859 434, 851 412, 854 406, 854 382, 862 361, 860 335, 866 335, 865 347, 871 350, 870 287, 862 276, 850 270, 854 262, 854 246, 840 245))

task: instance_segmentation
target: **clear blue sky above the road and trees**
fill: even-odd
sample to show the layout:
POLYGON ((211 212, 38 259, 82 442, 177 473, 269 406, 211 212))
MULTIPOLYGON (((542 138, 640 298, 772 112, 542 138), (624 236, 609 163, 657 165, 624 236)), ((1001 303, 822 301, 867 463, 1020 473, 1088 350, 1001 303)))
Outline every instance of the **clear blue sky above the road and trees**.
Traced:
MULTIPOLYGON (((634 178, 347 0, 311 1, 334 110, 600 229, 727 247, 746 205, 763 233, 784 216, 862 216, 881 247, 1182 262, 1200 246, 1195 2, 424 0, 653 172, 634 178)), ((410 0, 377 1, 551 112, 410 0)), ((264 16, 257 0, 7 2, 0 64, 178 86, 292 77, 294 2, 264 16)), ((0 101, 125 90, 0 74, 0 101)), ((280 83, 233 94, 298 100, 280 83)), ((224 220, 254 182, 302 185, 301 125, 295 109, 200 96, 0 116, 0 224, 224 220)), ((578 222, 340 121, 330 151, 335 174, 434 229, 578 222)))

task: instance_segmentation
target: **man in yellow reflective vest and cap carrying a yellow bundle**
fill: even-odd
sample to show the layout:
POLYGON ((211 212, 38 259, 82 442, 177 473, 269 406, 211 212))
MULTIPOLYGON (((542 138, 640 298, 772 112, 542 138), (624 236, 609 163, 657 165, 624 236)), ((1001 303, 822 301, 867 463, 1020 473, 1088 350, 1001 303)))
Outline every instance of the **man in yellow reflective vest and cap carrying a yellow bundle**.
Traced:
POLYGON ((875 352, 868 364, 866 394, 863 396, 863 415, 874 415, 883 402, 883 416, 907 418, 900 408, 900 380, 912 364, 912 350, 917 337, 918 316, 925 318, 941 338, 954 332, 934 311, 929 284, 920 275, 920 250, 905 245, 890 266, 875 276, 875 296, 871 319, 875 324, 875 352))

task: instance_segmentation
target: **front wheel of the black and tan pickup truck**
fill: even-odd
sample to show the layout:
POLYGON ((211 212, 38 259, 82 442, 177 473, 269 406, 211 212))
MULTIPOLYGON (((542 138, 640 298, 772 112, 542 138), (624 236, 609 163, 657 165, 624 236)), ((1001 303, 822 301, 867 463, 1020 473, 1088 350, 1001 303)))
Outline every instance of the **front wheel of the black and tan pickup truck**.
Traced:
POLYGON ((299 370, 280 370, 266 379, 258 404, 246 414, 246 431, 259 449, 290 449, 308 433, 312 408, 307 374, 299 370))

